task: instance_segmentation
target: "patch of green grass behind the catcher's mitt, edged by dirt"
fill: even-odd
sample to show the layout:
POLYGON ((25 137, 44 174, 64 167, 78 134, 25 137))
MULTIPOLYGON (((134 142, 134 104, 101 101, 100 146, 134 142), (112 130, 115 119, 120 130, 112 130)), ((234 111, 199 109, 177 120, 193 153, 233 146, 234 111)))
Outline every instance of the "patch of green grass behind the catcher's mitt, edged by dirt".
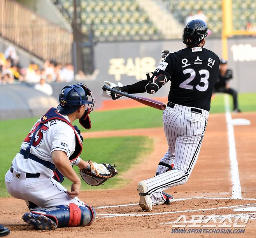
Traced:
MULTIPOLYGON (((91 159, 98 163, 116 165, 118 174, 100 186, 89 186, 82 183, 82 190, 109 189, 127 184, 127 180, 120 178, 133 164, 140 162, 140 156, 152 152, 152 139, 144 136, 109 137, 86 139, 85 148, 81 154, 84 160, 91 159)), ((74 166, 78 172, 78 167, 74 166)), ((71 182, 65 179, 63 185, 70 188, 71 182)))

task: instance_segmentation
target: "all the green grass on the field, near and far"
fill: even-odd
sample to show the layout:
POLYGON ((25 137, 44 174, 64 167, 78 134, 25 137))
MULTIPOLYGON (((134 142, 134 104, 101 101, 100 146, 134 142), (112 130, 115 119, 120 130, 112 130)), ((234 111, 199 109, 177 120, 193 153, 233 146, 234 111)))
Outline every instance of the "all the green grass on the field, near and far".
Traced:
MULTIPOLYGON (((239 107, 243 112, 256 111, 256 93, 241 93, 238 95, 239 107)), ((230 97, 230 107, 233 103, 230 97)), ((224 94, 216 94, 212 100, 210 113, 224 112, 224 94)), ((111 110, 93 112, 91 115, 92 129, 90 131, 104 131, 132 128, 153 128, 162 126, 162 112, 150 107, 135 109, 111 110)), ((4 184, 4 174, 9 169, 11 161, 19 151, 21 141, 28 134, 37 118, 15 119, 0 121, 0 196, 7 195, 4 184)), ((76 121, 75 124, 79 125, 76 121)), ((81 126, 79 126, 81 128, 81 126)), ((85 129, 84 129, 85 131, 85 129)), ((128 167, 142 151, 150 148, 147 138, 122 137, 122 138, 95 138, 84 141, 82 157, 99 162, 114 162, 117 169, 122 173, 128 160, 128 167), (118 161, 118 162, 117 162, 118 161)), ((106 185, 99 188, 121 186, 125 183, 121 178, 107 181, 106 185)), ((65 182, 69 186, 69 183, 65 182)), ((83 189, 87 189, 83 186, 83 189)), ((90 187, 92 188, 92 187, 90 187)))

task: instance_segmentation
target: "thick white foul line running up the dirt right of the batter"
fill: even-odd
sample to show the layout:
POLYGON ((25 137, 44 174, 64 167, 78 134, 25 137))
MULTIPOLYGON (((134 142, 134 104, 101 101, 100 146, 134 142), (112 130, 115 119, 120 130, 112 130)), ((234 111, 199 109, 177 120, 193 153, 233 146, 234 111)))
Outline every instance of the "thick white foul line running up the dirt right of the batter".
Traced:
POLYGON ((235 148, 235 135, 234 127, 232 124, 232 117, 230 113, 229 99, 228 95, 224 96, 225 100, 225 115, 226 123, 228 128, 228 145, 229 145, 229 159, 230 159, 230 172, 231 172, 231 182, 232 182, 232 197, 234 199, 241 199, 241 185, 239 179, 238 163, 237 163, 237 152, 235 148))

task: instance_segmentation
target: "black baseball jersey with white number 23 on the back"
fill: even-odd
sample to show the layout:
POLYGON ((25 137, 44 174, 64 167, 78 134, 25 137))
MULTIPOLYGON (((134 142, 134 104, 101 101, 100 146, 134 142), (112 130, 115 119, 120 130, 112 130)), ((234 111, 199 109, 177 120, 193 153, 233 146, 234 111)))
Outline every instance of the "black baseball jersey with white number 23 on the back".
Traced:
POLYGON ((210 110, 210 99, 218 78, 219 57, 202 47, 188 47, 169 53, 155 73, 171 81, 168 101, 210 110))

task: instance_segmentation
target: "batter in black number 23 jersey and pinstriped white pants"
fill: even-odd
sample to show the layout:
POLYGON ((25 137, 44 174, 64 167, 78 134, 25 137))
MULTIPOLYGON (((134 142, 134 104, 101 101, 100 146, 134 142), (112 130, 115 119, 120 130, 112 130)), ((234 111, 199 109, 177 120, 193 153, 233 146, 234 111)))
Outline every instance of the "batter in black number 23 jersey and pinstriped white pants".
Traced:
MULTIPOLYGON (((174 198, 163 191, 186 183, 195 166, 220 63, 215 53, 203 48, 209 34, 211 32, 204 21, 190 21, 182 35, 186 48, 162 52, 164 57, 152 77, 147 74, 147 80, 127 86, 105 81, 110 88, 126 93, 151 94, 171 81, 167 108, 163 112, 168 150, 158 165, 156 176, 138 183, 142 210, 152 210, 153 205, 170 204, 174 198)), ((121 97, 110 91, 103 91, 102 95, 112 99, 121 97)))

